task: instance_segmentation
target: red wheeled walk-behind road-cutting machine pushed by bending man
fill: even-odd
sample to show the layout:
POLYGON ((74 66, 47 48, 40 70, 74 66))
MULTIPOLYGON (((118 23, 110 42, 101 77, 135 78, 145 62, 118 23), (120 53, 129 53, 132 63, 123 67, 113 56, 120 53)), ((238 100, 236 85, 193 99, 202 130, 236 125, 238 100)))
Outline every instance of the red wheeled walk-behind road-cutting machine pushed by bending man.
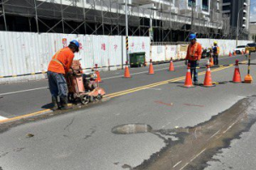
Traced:
POLYGON ((73 60, 71 69, 73 72, 66 77, 69 102, 80 101, 86 105, 102 99, 106 92, 100 88, 94 70, 90 74, 84 74, 79 60, 73 60))

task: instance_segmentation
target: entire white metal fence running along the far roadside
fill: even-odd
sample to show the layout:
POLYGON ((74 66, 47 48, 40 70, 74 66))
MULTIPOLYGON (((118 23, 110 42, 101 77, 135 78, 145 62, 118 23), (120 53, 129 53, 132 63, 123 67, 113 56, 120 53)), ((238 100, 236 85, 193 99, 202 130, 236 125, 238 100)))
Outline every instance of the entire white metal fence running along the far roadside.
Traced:
MULTIPOLYGON (((77 39, 80 44, 79 54, 75 59, 82 59, 84 68, 91 68, 95 64, 106 66, 125 64, 125 37, 70 35, 55 33, 30 33, 0 31, 0 76, 14 76, 33 72, 47 71, 49 61, 55 52, 77 39)), ((202 47, 212 47, 213 39, 198 39, 202 47)), ((220 54, 227 55, 236 48, 236 40, 217 40, 220 54)), ((246 45, 252 41, 239 41, 239 45, 246 45)), ((129 53, 145 52, 146 61, 152 57, 153 61, 183 59, 186 55, 186 45, 152 46, 150 56, 149 37, 129 37, 129 53)), ((112 67, 111 70, 117 69, 112 67)), ((45 75, 31 75, 26 77, 0 78, 0 83, 18 82, 24 80, 42 79, 45 75)))

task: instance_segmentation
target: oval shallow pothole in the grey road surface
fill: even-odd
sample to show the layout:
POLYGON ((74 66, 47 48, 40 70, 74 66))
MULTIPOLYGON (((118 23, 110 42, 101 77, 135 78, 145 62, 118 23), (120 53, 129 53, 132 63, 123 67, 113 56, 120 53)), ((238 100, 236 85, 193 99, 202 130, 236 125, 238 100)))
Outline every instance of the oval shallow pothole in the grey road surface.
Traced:
POLYGON ((115 134, 132 134, 132 133, 148 133, 152 131, 152 127, 147 124, 126 124, 113 127, 112 133, 115 134))

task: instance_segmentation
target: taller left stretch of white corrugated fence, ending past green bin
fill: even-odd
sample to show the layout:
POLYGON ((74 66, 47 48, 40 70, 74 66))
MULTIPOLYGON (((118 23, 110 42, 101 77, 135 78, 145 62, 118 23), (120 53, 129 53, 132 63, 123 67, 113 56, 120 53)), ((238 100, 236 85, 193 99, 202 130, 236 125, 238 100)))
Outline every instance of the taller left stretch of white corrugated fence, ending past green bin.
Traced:
MULTIPOLYGON (((102 71, 125 64, 125 37, 0 31, 0 83, 45 78, 49 61, 57 50, 76 39, 80 51, 75 59, 90 71, 96 64, 102 71)), ((145 52, 150 58, 149 37, 129 37, 129 53, 145 52)))

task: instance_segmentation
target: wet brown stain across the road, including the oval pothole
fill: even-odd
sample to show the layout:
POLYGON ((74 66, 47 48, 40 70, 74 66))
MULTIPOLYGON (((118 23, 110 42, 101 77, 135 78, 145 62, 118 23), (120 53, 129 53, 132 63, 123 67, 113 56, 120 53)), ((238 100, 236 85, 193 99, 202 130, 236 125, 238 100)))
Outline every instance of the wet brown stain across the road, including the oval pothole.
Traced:
POLYGON ((207 161, 214 161, 212 156, 229 147, 232 139, 239 139, 241 133, 252 127, 256 122, 255 110, 256 97, 250 97, 195 127, 154 130, 149 125, 132 124, 113 127, 112 132, 154 133, 164 140, 164 148, 132 169, 204 169, 207 161))

